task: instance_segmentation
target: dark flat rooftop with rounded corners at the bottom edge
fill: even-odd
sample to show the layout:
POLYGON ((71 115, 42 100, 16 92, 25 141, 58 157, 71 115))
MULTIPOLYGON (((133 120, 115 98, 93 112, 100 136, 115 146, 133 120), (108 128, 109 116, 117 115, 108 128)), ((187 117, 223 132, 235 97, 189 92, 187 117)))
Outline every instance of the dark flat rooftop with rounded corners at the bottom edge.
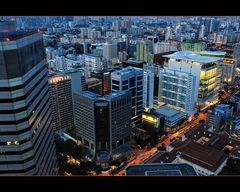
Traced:
POLYGON ((127 176, 197 176, 195 169, 187 163, 154 163, 129 165, 127 176))

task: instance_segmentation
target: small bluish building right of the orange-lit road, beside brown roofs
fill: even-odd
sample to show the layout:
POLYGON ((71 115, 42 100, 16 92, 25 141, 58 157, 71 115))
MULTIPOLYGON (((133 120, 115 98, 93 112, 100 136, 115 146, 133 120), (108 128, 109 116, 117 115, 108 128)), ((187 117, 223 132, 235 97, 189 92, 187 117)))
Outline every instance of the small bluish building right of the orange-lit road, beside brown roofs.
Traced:
POLYGON ((233 107, 227 104, 211 106, 207 114, 207 126, 213 126, 214 131, 222 131, 226 121, 230 120, 233 107))

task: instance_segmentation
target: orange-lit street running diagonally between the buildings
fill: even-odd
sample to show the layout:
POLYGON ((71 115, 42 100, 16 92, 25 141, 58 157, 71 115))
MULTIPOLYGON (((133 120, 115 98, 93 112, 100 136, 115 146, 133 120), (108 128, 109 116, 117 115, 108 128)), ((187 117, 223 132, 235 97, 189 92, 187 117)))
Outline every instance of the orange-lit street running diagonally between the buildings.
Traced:
MULTIPOLYGON (((170 143, 170 140, 176 137, 181 137, 185 131, 187 131, 189 128, 194 127, 195 125, 199 124, 200 120, 206 120, 206 113, 199 113, 199 116, 191 121, 186 123, 184 127, 182 127, 180 130, 178 130, 175 133, 168 134, 168 137, 162 141, 159 141, 159 143, 153 147, 150 150, 147 150, 147 147, 144 147, 142 150, 138 150, 138 152, 135 151, 136 153, 136 158, 132 161, 129 161, 127 165, 134 165, 134 164, 143 164, 145 159, 149 158, 150 156, 154 155, 158 151, 158 147, 160 147, 163 143, 165 145, 168 145, 170 143)), ((124 174, 124 166, 118 173, 114 174, 114 176, 122 176, 124 174)), ((108 172, 104 172, 101 174, 101 176, 111 176, 108 172)))

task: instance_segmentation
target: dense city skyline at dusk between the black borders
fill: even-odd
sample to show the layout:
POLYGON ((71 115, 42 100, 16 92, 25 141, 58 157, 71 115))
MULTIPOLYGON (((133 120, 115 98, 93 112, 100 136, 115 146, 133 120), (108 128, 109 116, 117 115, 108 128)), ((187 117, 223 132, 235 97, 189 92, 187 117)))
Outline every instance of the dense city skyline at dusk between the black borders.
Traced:
POLYGON ((0 175, 240 174, 239 16, 0 16, 0 175))

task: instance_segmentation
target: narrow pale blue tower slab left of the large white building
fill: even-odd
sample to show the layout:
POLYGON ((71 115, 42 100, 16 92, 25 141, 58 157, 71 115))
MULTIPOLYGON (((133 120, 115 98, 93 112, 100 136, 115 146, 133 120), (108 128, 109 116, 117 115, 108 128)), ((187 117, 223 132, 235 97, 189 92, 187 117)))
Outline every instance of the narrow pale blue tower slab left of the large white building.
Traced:
POLYGON ((143 73, 143 107, 153 108, 154 73, 143 73))

